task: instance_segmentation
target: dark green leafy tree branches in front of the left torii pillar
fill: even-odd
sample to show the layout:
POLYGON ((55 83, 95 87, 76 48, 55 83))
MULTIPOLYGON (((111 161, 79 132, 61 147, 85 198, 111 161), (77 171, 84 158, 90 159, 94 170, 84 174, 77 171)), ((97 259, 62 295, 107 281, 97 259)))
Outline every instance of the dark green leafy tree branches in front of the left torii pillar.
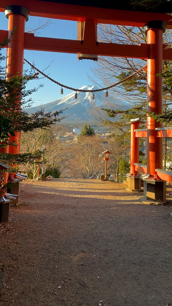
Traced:
MULTIPOLYGON (((15 29, 12 33, 15 35, 15 29)), ((2 49, 10 42, 10 39, 6 39, 3 43, 0 43, 0 63, 5 60, 2 55, 2 49)), ((29 81, 33 79, 32 71, 25 71, 23 76, 19 73, 15 76, 5 75, 6 67, 0 65, 0 147, 6 147, 7 145, 17 146, 15 141, 9 141, 9 134, 14 136, 14 132, 28 132, 34 129, 46 129, 52 124, 61 121, 60 118, 63 110, 44 113, 41 109, 34 114, 28 114, 24 111, 24 108, 32 105, 32 98, 30 95, 36 92, 38 88, 26 89, 29 81)), ((38 157, 38 152, 23 153, 23 154, 0 154, 0 159, 9 162, 10 164, 24 164, 29 161, 33 161, 38 157)))

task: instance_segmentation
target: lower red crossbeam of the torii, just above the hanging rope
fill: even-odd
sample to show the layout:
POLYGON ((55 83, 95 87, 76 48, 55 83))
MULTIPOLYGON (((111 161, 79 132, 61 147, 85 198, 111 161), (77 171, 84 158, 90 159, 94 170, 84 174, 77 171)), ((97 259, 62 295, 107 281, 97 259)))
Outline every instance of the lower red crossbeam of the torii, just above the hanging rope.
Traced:
MULTIPOLYGON (((8 32, 0 30, 0 41, 4 41, 8 32)), ((62 53, 85 53, 98 54, 103 56, 128 57, 128 58, 149 58, 150 46, 148 44, 140 44, 138 46, 115 44, 115 43, 96 43, 83 42, 72 39, 59 39, 49 37, 34 36, 31 33, 24 35, 24 49, 37 51, 50 51, 62 53)), ((164 49, 164 60, 172 60, 171 49, 164 49)), ((137 136, 138 137, 138 136, 137 136)), ((144 136, 143 136, 144 137, 144 136)))

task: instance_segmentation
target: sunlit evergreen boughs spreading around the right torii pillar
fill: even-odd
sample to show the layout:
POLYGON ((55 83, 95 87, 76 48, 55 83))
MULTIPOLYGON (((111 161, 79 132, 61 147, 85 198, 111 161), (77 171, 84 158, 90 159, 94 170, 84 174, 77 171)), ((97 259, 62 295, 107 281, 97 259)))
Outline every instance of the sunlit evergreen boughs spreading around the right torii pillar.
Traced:
MULTIPOLYGON (((123 79, 128 76, 129 73, 122 72, 118 75, 118 79, 123 79)), ((163 73, 158 74, 157 76, 163 78, 163 114, 149 113, 154 119, 160 121, 161 123, 165 123, 165 125, 169 125, 172 122, 172 110, 170 105, 172 104, 172 63, 163 61, 163 73)), ((136 91, 136 95, 146 94, 147 84, 144 75, 142 76, 142 80, 137 80, 136 78, 130 79, 122 83, 123 89, 126 92, 136 91), (136 84, 137 83, 137 84, 136 84)), ((113 122, 114 126, 118 129, 125 127, 128 125, 128 121, 132 118, 141 117, 142 120, 146 120, 147 116, 147 103, 146 99, 143 102, 135 105, 132 105, 129 109, 123 110, 115 110, 115 109, 107 109, 102 108, 107 113, 108 118, 113 118, 115 121, 113 122)), ((112 124, 112 121, 107 120, 107 124, 112 124)))

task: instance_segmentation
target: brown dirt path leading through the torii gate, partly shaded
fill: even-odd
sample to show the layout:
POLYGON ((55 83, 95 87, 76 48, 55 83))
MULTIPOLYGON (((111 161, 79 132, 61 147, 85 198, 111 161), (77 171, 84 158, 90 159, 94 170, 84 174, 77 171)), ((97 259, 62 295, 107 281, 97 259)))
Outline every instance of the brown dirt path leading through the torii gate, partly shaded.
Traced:
POLYGON ((1 306, 172 302, 170 205, 144 205, 108 181, 22 185, 25 204, 0 225, 1 306))

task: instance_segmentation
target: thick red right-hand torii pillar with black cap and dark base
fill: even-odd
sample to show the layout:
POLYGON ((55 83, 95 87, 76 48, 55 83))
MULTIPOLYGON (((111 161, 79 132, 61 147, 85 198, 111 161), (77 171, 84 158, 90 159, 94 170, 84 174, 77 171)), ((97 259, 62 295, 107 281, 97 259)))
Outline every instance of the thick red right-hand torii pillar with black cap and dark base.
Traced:
MULTIPOLYGON (((150 44, 150 59, 147 60, 147 112, 163 113, 163 81, 157 76, 163 69, 163 32, 165 21, 151 21, 145 26, 150 44)), ((144 180, 144 200, 166 200, 166 183, 157 181, 155 169, 163 168, 163 138, 157 137, 155 128, 161 127, 147 114, 147 173, 144 180)))

